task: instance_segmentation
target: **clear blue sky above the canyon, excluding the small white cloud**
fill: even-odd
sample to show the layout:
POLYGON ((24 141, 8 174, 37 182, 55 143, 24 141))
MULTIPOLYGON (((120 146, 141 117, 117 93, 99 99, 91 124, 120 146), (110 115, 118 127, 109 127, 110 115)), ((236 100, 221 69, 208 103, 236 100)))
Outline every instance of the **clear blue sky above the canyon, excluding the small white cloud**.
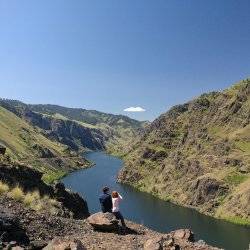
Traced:
POLYGON ((0 96, 152 120, 250 76, 249 13, 249 0, 0 0, 0 96))

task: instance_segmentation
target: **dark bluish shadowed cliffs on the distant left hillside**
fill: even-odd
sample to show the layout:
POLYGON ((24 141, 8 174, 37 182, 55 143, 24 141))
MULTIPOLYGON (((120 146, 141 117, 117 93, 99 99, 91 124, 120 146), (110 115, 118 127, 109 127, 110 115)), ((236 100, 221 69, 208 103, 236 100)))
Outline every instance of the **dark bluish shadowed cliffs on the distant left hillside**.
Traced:
POLYGON ((28 105, 19 101, 1 100, 0 105, 33 126, 42 129, 41 132, 54 141, 69 146, 78 151, 82 148, 92 150, 104 149, 104 135, 95 128, 82 126, 76 121, 64 117, 53 117, 32 111, 28 105))

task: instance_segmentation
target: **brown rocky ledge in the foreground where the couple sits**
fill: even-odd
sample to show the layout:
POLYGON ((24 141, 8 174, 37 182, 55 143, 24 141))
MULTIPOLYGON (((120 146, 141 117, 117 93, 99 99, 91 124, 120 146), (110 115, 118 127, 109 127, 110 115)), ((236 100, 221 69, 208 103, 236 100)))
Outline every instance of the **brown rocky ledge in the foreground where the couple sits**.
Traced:
POLYGON ((162 234, 126 221, 128 228, 123 231, 112 214, 63 218, 35 212, 4 196, 0 196, 0 211, 0 249, 217 249, 194 242, 189 229, 162 234))

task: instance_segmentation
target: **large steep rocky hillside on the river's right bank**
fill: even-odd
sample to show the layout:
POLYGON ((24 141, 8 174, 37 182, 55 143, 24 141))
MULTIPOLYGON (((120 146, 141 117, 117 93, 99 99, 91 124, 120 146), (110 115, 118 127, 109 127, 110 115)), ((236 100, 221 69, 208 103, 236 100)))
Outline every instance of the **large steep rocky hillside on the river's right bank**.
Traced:
POLYGON ((250 223, 250 80, 170 109, 125 158, 119 181, 250 223))

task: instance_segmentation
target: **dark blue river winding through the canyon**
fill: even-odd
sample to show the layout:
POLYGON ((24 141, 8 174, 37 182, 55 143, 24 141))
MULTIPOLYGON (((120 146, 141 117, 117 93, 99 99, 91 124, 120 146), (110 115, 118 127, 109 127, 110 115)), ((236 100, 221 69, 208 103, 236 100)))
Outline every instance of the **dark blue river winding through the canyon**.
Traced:
POLYGON ((87 200, 91 213, 100 211, 100 190, 103 186, 109 186, 111 190, 122 194, 124 201, 121 211, 124 217, 131 221, 160 232, 191 228, 196 240, 202 239, 208 244, 228 250, 249 249, 249 227, 217 220, 116 183, 117 173, 123 165, 123 161, 117 157, 103 152, 89 152, 85 157, 96 165, 76 171, 65 177, 62 182, 87 200))

